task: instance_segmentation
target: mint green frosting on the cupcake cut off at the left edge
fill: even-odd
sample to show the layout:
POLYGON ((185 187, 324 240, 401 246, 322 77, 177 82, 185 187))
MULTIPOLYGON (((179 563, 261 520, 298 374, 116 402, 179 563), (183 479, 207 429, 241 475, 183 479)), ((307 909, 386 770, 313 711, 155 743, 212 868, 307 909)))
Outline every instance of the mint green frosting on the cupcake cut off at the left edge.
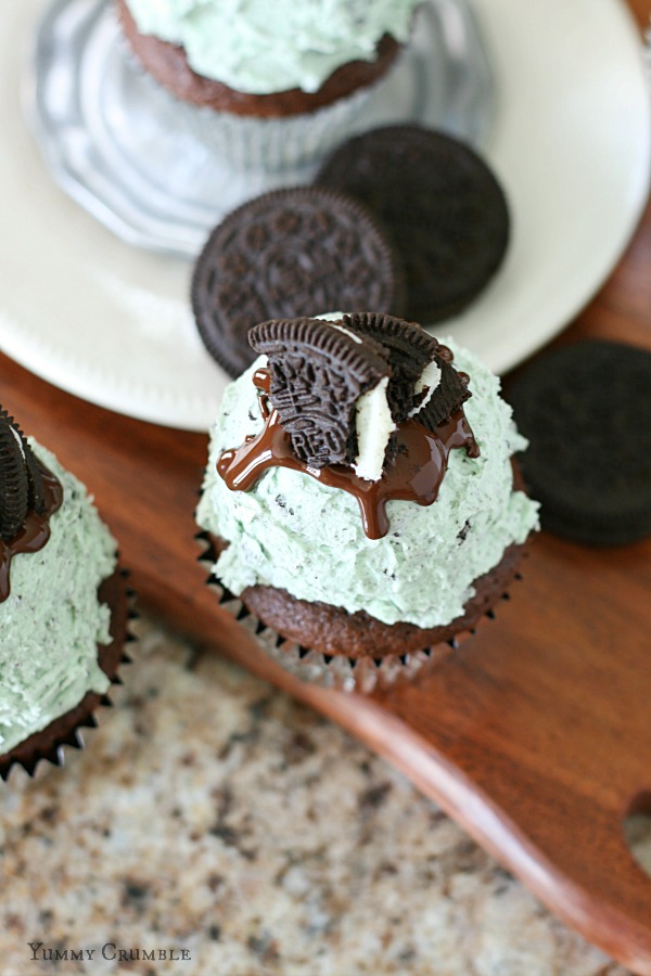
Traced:
POLYGON ((110 684, 98 665, 110 620, 98 587, 115 567, 115 541, 84 485, 30 444, 64 502, 43 549, 12 558, 11 593, 0 603, 0 754, 110 684))

